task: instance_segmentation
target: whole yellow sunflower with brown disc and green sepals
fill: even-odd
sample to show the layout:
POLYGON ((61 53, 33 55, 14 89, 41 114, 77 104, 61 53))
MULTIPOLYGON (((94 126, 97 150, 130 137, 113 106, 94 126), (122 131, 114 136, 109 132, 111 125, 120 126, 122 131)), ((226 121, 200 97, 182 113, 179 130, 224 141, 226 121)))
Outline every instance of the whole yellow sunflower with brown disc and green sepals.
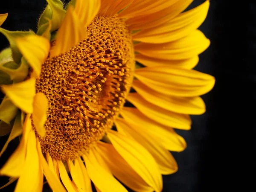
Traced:
POLYGON ((187 12, 192 0, 47 3, 36 33, 0 28, 1 154, 22 134, 0 174, 17 192, 44 177, 54 192, 160 192, 177 171, 169 151, 186 148, 173 128, 190 129, 215 83, 192 70, 210 44, 198 30, 209 0, 187 12))

